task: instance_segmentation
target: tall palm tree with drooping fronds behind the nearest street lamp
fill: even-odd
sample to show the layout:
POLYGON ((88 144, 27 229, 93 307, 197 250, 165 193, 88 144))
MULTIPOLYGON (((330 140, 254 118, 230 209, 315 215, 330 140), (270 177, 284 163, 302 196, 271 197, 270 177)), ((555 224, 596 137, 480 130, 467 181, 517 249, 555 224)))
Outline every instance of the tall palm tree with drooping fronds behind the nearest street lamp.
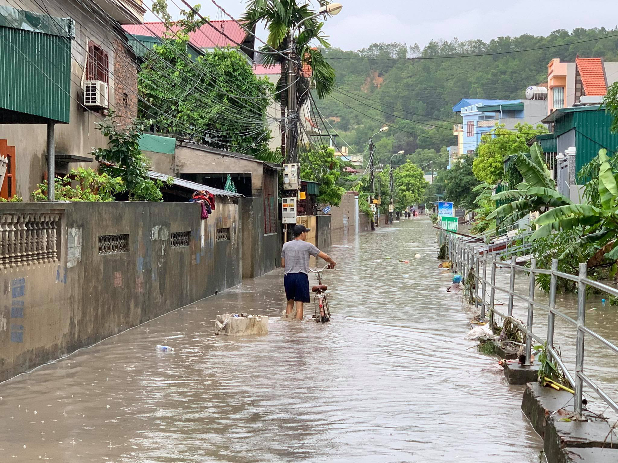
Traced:
MULTIPOLYGON (((320 6, 328 4, 328 0, 318 0, 320 6)), ((318 98, 324 98, 331 93, 335 85, 335 71, 326 62, 318 49, 312 48, 310 42, 317 40, 324 48, 330 44, 321 33, 323 22, 317 18, 307 19, 316 12, 310 9, 309 4, 298 6, 296 0, 248 0, 247 10, 241 17, 246 27, 252 29, 260 22, 266 23, 268 46, 261 48, 265 64, 281 64, 281 77, 277 82, 276 99, 281 103, 281 118, 286 120, 287 106, 287 72, 290 62, 282 56, 289 52, 290 44, 295 44, 295 56, 302 57, 302 63, 311 68, 311 77, 303 72, 297 72, 297 106, 302 107, 309 96, 310 87, 316 89, 318 98), (292 41, 291 33, 302 22, 302 28, 296 40, 292 41), (279 51, 276 53, 273 49, 279 51)), ((299 69, 300 71, 300 69, 299 69)), ((281 152, 285 156, 286 135, 285 125, 281 124, 281 152)))

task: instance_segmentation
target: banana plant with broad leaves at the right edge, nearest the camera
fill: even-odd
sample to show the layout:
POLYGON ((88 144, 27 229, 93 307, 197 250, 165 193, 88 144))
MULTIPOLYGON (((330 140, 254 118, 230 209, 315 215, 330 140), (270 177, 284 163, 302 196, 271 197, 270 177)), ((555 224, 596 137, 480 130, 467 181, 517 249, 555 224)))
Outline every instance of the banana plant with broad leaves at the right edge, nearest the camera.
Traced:
POLYGON ((571 230, 575 227, 583 227, 582 238, 576 245, 582 243, 593 244, 599 248, 588 265, 599 264, 603 258, 618 259, 618 185, 612 171, 607 150, 599 151, 599 197, 601 207, 590 204, 565 204, 546 212, 536 219, 539 228, 531 236, 532 239, 546 236, 552 230, 571 230))

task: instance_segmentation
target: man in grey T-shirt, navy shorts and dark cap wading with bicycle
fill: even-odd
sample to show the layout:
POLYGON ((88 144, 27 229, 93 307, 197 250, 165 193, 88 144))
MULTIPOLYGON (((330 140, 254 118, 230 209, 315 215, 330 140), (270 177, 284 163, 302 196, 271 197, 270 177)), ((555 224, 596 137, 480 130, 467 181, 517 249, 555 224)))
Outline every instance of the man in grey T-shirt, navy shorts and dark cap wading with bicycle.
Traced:
POLYGON ((281 249, 281 267, 284 267, 285 276, 283 285, 286 288, 286 315, 289 316, 296 302, 296 318, 303 319, 303 303, 311 302, 309 298, 309 257, 318 256, 328 262, 328 268, 334 269, 337 262, 333 261, 328 254, 307 243, 307 231, 311 228, 305 225, 294 225, 292 232, 294 240, 288 241, 281 249))

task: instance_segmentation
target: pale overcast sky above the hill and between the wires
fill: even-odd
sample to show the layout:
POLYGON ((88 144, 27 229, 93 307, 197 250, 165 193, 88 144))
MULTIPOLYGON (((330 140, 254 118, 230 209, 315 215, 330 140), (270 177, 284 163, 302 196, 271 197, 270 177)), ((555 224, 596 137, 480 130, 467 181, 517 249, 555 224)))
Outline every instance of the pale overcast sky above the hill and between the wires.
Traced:
MULTIPOLYGON (((300 0, 299 0, 300 1, 300 0)), ((177 8, 168 0, 169 9, 177 8)), ((190 0, 195 3, 195 0, 190 0)), ((217 0, 234 17, 239 17, 245 2, 217 0)), ((421 48, 432 39, 459 40, 480 38, 489 41, 499 36, 523 33, 548 35, 552 30, 576 27, 614 28, 618 24, 616 0, 561 0, 538 2, 464 2, 455 0, 341 0, 343 9, 324 26, 332 46, 357 50, 377 42, 401 42, 421 48), (602 14, 601 14, 602 12, 602 14)), ((150 7, 150 2, 146 0, 150 7)), ((227 19, 210 0, 200 0, 201 13, 210 19, 227 19)), ((157 20, 150 11, 145 20, 157 20)), ((258 36, 265 39, 263 30, 258 36)))

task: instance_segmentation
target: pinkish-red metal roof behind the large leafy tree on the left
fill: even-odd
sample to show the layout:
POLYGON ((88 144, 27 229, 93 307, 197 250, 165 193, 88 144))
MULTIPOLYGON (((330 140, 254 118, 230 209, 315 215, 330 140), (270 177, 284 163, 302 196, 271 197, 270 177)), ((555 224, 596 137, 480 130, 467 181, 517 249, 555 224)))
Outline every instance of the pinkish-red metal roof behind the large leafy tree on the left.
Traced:
MULTIPOLYGON (((240 27, 234 21, 211 21, 214 28, 208 24, 203 25, 198 30, 189 34, 191 44, 196 48, 214 48, 214 47, 237 47, 247 37, 247 31, 240 27), (215 30, 216 28, 216 30, 215 30), (228 39, 223 33, 232 40, 228 39)), ((143 24, 126 24, 122 26, 125 31, 133 35, 145 35, 149 37, 161 37, 166 32, 166 27, 162 22, 145 22, 143 24)), ((174 36, 173 28, 171 33, 174 36)))

